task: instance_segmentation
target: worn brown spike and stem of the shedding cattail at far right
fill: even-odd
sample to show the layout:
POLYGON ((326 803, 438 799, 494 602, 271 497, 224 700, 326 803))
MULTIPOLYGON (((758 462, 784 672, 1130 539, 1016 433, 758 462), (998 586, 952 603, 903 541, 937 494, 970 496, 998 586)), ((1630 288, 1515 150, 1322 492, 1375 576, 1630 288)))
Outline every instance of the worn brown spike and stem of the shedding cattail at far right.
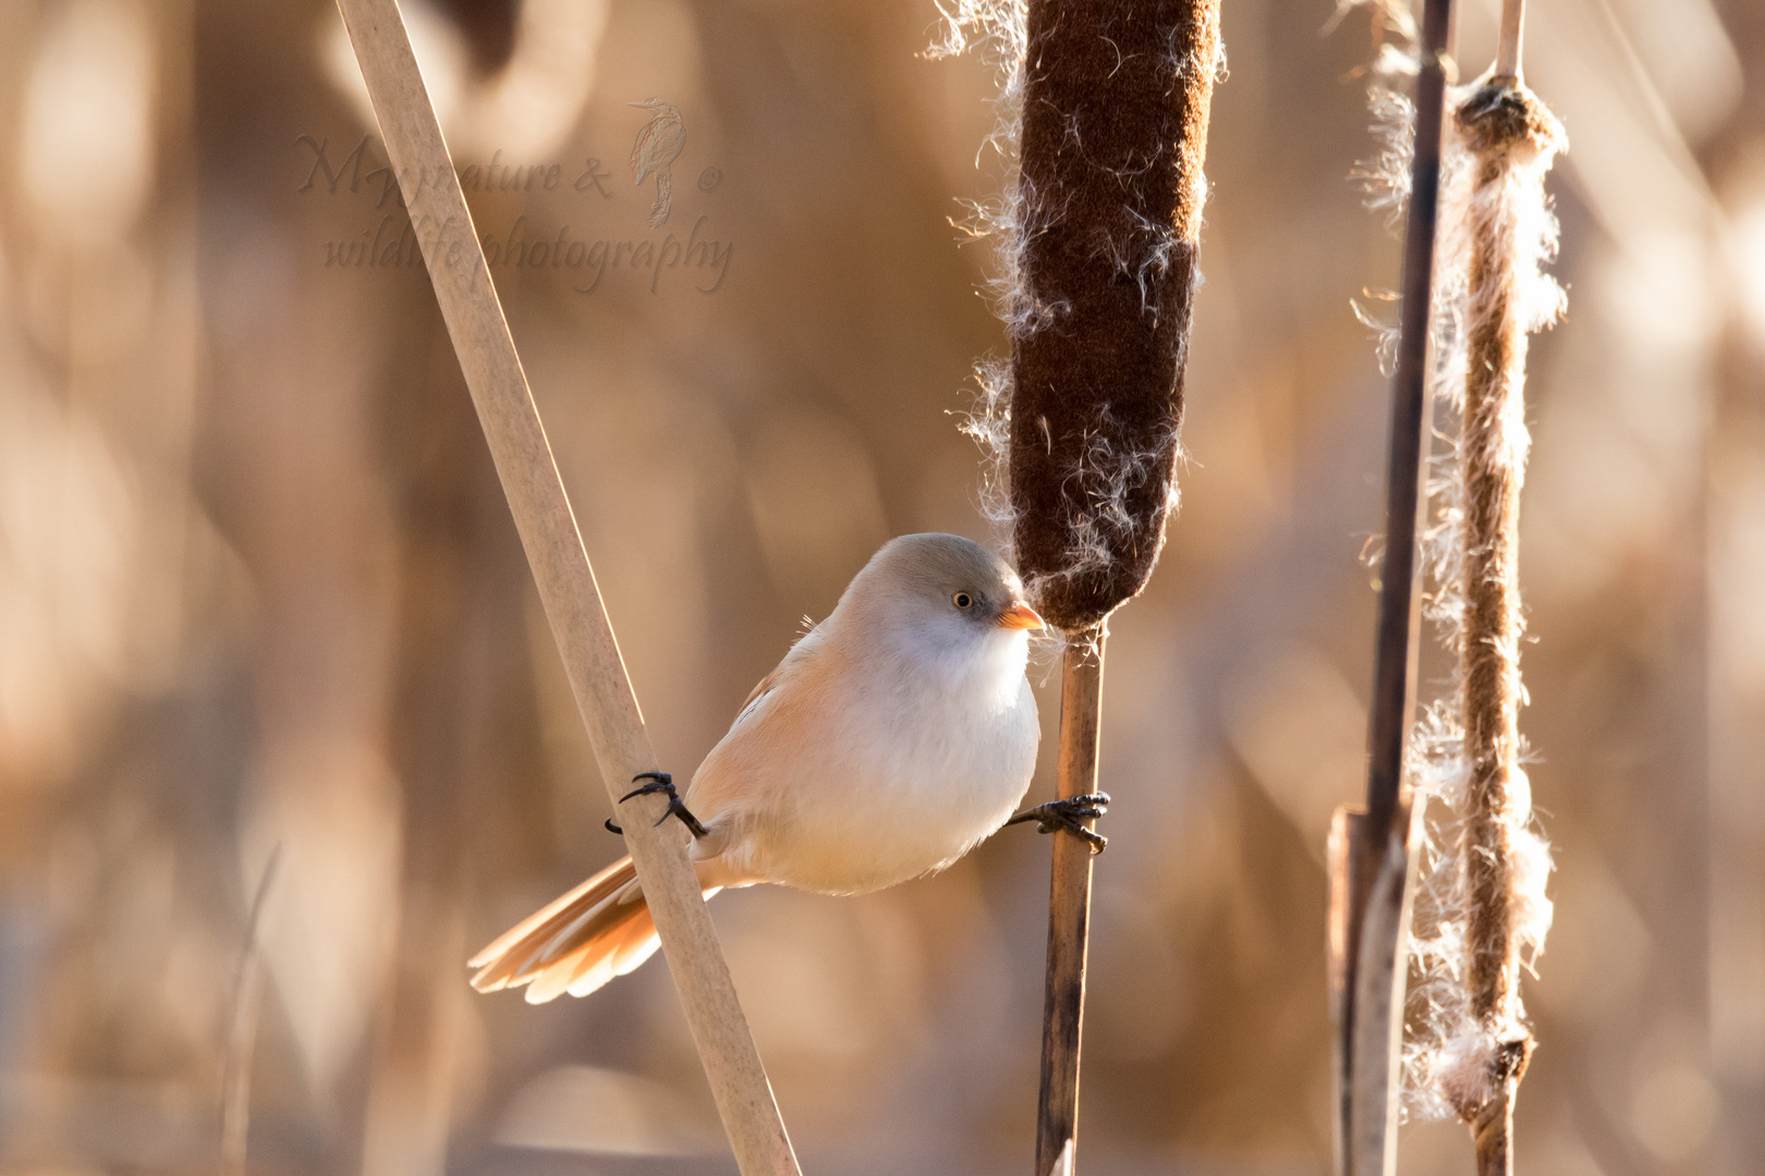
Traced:
MULTIPOLYGON (((1520 4, 1509 0, 1516 32, 1520 4)), ((1518 69, 1518 58, 1513 62, 1518 69)), ((1500 65, 1497 67, 1500 71, 1500 65)), ((1465 411, 1460 434, 1463 628, 1460 707, 1465 741, 1460 869, 1472 1023, 1447 1093, 1470 1123, 1479 1176, 1513 1172, 1513 1100, 1532 1031, 1520 1003, 1521 949, 1543 934, 1543 846, 1530 832, 1520 767, 1520 488, 1525 478, 1527 333, 1537 326, 1534 224, 1543 173, 1562 130, 1516 72, 1497 72, 1458 108, 1474 159, 1465 411)), ((1551 309, 1553 312, 1553 309, 1551 309)))

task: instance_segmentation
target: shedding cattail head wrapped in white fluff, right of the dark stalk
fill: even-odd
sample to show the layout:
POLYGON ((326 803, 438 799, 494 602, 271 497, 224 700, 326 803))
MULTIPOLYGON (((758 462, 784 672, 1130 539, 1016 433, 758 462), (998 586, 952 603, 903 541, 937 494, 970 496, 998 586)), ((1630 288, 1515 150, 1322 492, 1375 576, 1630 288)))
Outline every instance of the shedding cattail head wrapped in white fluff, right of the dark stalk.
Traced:
POLYGON ((1435 340, 1453 451, 1430 487, 1428 573, 1430 617, 1458 654, 1458 674, 1456 696, 1430 711, 1412 755, 1417 790, 1440 800, 1440 815, 1416 904, 1423 977, 1408 1070, 1414 1102, 1456 1113, 1483 1148, 1530 1056, 1520 970, 1551 922, 1550 846, 1534 823, 1518 728, 1518 510, 1530 444, 1527 333, 1564 309, 1541 268, 1557 242, 1544 173, 1564 136, 1513 78, 1467 86, 1453 106, 1435 340))

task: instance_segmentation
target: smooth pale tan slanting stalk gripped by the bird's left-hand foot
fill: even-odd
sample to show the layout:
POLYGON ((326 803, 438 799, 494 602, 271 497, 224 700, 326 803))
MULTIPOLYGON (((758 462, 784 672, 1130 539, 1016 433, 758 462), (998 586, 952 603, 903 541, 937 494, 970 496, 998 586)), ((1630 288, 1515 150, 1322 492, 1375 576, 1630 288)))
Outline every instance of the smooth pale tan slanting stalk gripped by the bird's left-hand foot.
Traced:
MULTIPOLYGON (((387 155, 424 249, 441 317, 466 376, 498 478, 558 640, 609 797, 658 767, 607 621, 545 427, 503 319, 471 212, 424 88, 397 0, 339 0, 387 155)), ((625 841, 669 973, 743 1176, 798 1176, 771 1084, 736 1000, 697 876, 660 795, 637 797, 625 841)))

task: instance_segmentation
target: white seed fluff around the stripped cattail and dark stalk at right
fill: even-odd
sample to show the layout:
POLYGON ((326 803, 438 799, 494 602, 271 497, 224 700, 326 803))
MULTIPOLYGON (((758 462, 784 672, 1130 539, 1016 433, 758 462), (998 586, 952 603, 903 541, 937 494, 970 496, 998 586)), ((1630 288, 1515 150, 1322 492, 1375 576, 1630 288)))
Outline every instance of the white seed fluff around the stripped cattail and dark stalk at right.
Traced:
MULTIPOLYGON (((1357 7, 1366 0, 1341 0, 1340 7, 1357 7)), ((1416 72, 1416 23, 1405 0, 1378 0, 1377 7, 1400 44, 1387 44, 1373 69, 1370 106, 1373 132, 1380 145, 1373 160, 1352 175, 1368 192, 1368 206, 1384 212, 1396 226, 1408 201, 1410 159, 1416 118, 1408 97, 1396 90, 1416 72)), ((1470 210, 1474 199, 1491 199, 1474 189, 1474 159, 1451 116, 1479 85, 1447 90, 1446 134, 1440 152, 1440 203, 1435 238, 1433 275, 1433 363, 1428 374, 1435 404, 1435 434, 1442 439, 1430 457, 1428 525, 1421 536, 1424 577, 1424 615, 1440 644, 1456 652, 1463 642, 1461 594, 1461 485, 1458 434, 1465 406, 1465 331, 1468 314, 1470 210)), ((1544 173, 1550 155, 1525 160, 1514 178, 1493 199, 1509 201, 1520 261, 1521 310, 1528 330, 1553 323, 1566 305, 1562 287, 1543 272, 1557 252, 1557 220, 1544 197, 1544 173)), ((1389 374, 1396 351, 1396 324, 1354 307, 1356 316, 1375 331, 1382 368, 1389 374)), ((1516 411, 1504 421, 1507 444, 1525 460, 1528 437, 1525 420, 1516 411)), ((1514 651, 1518 652, 1518 651, 1514 651)), ((1456 665, 1456 659, 1454 659, 1456 665)), ((1426 1118, 1446 1118, 1454 1107, 1481 1104, 1493 1093, 1491 1074, 1502 1042, 1523 1035, 1525 1010, 1514 1001, 1502 1024, 1479 1024, 1468 1009, 1467 910, 1468 889, 1463 876, 1463 806, 1470 767, 1463 732, 1458 723, 1461 682, 1446 684, 1440 696, 1428 702, 1408 748, 1408 776, 1419 804, 1433 802, 1421 848, 1421 882, 1410 931, 1414 982, 1408 996, 1405 1042, 1405 1109, 1426 1118)), ((1521 695, 1523 696, 1523 695, 1521 695)), ((1546 894, 1551 859, 1550 845, 1537 832, 1532 816, 1532 790, 1520 769, 1511 779, 1509 815, 1513 841, 1514 894, 1511 927, 1527 966, 1544 949, 1551 924, 1546 894)))

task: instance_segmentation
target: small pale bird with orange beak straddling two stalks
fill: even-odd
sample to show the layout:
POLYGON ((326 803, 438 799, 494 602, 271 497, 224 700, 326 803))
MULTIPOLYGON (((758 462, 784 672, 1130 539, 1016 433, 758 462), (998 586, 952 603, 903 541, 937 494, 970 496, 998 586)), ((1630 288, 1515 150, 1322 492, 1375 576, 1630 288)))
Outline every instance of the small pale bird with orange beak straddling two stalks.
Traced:
MULTIPOLYGON (((833 612, 748 695, 687 788, 665 792, 706 897, 777 883, 867 894, 935 873, 1006 823, 1066 829, 1093 852, 1105 793, 1013 816, 1041 725, 1025 674, 1043 621, 1011 566, 973 540, 891 540, 833 612)), ((612 822, 607 827, 618 830, 612 822)), ((471 961, 473 987, 530 1003, 586 996, 658 947, 625 857, 530 915, 471 961)))

